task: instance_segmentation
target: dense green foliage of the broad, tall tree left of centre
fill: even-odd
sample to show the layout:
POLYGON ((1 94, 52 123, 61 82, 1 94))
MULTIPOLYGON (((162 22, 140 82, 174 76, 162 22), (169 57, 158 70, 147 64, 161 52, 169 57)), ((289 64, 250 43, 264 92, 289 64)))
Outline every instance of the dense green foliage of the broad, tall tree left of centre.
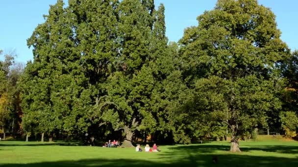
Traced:
POLYGON ((153 97, 170 73, 155 64, 166 57, 163 5, 155 11, 153 0, 69 0, 63 8, 58 0, 45 20, 27 41, 34 55, 22 80, 24 125, 34 126, 28 131, 159 126, 153 97))

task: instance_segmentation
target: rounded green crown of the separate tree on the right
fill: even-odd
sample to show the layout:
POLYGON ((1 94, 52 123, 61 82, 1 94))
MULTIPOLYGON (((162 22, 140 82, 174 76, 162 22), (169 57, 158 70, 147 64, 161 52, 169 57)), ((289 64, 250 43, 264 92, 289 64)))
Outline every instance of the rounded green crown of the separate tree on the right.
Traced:
MULTIPOLYGON (((280 109, 280 62, 289 57, 275 16, 256 0, 219 0, 185 30, 179 41, 187 84, 195 85, 195 109, 216 114, 232 142, 266 125, 266 112, 280 109)), ((190 111, 194 113, 194 110, 190 111)))

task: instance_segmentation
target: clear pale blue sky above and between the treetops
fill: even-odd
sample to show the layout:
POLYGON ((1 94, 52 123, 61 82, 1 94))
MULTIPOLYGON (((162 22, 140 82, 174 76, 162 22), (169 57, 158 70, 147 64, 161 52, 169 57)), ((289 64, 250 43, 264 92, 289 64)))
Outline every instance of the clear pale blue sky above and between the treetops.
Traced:
MULTIPOLYGON (((65 1, 65 0, 64 0, 65 1)), ((217 0, 155 0, 156 6, 164 3, 166 11, 167 36, 177 42, 184 28, 197 25, 196 18, 205 10, 215 6, 217 0)), ((44 22, 43 15, 48 14, 49 5, 56 0, 0 0, 0 49, 16 50, 18 62, 32 59, 26 39, 35 27, 44 22)), ((282 31, 282 40, 292 50, 298 49, 298 0, 259 0, 260 4, 272 9, 276 15, 278 28, 282 31)))

